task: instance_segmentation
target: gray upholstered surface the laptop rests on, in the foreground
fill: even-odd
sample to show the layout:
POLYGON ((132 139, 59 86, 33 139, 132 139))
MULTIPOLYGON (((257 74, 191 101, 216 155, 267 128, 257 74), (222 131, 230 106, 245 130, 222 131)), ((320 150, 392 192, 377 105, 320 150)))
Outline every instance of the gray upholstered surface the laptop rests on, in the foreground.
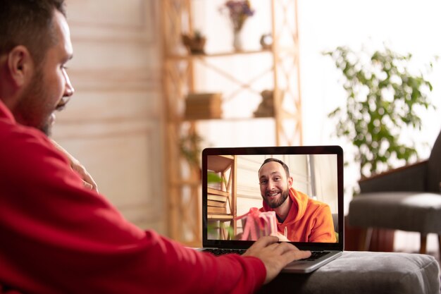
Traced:
POLYGON ((280 274, 259 293, 439 294, 434 257, 395 252, 343 252, 311 274, 280 274))

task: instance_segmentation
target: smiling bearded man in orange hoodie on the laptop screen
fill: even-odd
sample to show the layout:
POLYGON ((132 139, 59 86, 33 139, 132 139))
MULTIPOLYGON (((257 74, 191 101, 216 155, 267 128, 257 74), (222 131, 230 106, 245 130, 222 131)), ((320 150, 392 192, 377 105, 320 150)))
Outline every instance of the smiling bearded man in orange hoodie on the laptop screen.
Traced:
POLYGON ((283 161, 275 158, 263 161, 259 169, 261 212, 274 211, 278 233, 292 242, 335 243, 337 238, 328 204, 294 190, 292 181, 283 161))

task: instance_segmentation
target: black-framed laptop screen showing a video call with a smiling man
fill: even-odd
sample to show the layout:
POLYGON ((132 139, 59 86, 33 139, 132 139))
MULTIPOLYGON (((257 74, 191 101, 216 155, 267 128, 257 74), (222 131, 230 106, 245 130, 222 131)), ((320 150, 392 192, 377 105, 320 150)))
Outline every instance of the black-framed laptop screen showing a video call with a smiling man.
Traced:
POLYGON ((278 235, 301 249, 343 249, 341 147, 207 148, 202 171, 204 247, 278 235))

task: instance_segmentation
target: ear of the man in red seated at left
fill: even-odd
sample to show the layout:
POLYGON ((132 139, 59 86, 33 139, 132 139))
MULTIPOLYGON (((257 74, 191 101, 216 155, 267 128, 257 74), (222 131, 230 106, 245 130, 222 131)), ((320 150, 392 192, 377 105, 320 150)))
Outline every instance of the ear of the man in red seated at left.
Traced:
POLYGON ((26 47, 14 47, 8 54, 8 71, 17 87, 23 87, 32 78, 34 61, 26 47))

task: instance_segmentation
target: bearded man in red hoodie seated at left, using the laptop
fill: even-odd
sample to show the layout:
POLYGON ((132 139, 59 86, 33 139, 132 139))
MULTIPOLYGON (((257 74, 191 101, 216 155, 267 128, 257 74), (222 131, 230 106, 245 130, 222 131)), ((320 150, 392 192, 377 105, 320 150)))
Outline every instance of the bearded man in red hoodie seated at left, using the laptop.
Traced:
POLYGON ((0 36, 0 293, 253 293, 309 257, 275 237, 214 257, 126 221, 48 139, 74 92, 63 0, 0 0, 0 36))

